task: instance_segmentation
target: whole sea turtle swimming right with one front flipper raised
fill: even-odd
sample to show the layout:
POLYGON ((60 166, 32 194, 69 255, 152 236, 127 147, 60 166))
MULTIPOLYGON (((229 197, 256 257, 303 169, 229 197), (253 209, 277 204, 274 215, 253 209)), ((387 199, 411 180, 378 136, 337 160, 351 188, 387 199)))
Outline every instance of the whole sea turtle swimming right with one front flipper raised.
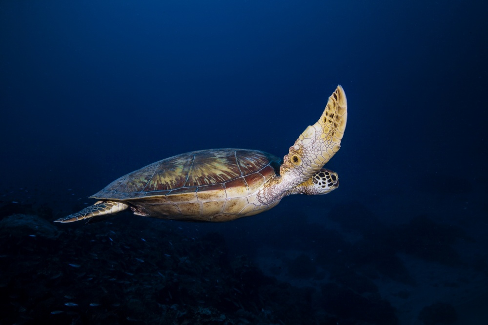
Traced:
POLYGON ((60 218, 73 222, 130 208, 134 214, 186 221, 229 221, 261 213, 290 194, 325 194, 339 186, 323 168, 339 150, 347 101, 337 86, 320 119, 281 159, 255 150, 183 153, 131 172, 90 198, 94 205, 60 218))

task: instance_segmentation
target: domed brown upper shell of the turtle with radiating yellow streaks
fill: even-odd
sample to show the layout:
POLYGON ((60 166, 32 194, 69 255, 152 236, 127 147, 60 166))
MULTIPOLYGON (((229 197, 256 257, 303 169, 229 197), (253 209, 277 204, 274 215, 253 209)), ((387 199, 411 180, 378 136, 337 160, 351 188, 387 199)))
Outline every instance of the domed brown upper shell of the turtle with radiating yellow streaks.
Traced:
POLYGON ((91 198, 161 204, 245 197, 279 174, 280 165, 280 158, 256 150, 182 153, 128 173, 91 198))

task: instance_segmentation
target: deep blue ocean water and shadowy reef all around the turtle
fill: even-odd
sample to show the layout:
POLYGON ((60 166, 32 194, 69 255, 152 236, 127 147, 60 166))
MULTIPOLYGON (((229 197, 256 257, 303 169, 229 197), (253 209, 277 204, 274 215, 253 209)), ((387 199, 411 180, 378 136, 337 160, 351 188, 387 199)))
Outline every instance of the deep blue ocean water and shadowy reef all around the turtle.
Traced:
POLYGON ((488 324, 487 17, 453 0, 2 1, 0 324, 488 324), (283 157, 338 84, 330 194, 222 224, 52 222, 178 153, 283 157))

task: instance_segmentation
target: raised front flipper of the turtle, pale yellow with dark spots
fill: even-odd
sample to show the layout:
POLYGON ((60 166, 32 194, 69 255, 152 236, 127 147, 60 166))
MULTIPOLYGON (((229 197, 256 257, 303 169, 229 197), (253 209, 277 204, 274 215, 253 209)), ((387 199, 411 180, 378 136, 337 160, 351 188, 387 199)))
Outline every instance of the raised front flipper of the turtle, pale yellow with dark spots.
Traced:
POLYGON ((341 148, 346 130, 347 99, 344 89, 337 86, 329 97, 325 110, 314 125, 300 134, 289 153, 283 158, 280 175, 289 189, 305 182, 329 161, 341 148))

